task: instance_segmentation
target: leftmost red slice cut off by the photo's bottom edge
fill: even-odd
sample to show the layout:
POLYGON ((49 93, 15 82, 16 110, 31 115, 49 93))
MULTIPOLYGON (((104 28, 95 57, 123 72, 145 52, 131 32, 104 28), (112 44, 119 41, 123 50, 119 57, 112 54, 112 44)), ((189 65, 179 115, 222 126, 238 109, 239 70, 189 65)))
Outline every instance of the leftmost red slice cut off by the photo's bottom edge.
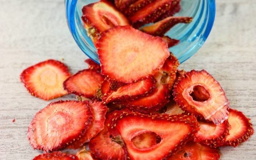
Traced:
POLYGON ((79 160, 77 156, 62 152, 44 153, 36 156, 33 160, 79 160))

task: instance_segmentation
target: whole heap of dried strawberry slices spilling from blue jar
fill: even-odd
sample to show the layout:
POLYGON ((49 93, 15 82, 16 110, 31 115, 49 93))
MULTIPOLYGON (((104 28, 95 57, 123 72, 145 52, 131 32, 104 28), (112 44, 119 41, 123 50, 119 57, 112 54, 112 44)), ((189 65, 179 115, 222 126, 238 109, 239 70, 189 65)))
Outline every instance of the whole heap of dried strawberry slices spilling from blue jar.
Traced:
POLYGON ((219 82, 206 70, 178 69, 166 42, 173 39, 164 34, 191 22, 172 17, 179 10, 179 0, 84 6, 84 27, 101 65, 87 59, 88 69, 71 75, 62 62, 46 60, 20 75, 32 96, 78 97, 35 114, 28 140, 44 154, 34 160, 218 160, 218 147, 248 140, 250 119, 230 108, 219 82))

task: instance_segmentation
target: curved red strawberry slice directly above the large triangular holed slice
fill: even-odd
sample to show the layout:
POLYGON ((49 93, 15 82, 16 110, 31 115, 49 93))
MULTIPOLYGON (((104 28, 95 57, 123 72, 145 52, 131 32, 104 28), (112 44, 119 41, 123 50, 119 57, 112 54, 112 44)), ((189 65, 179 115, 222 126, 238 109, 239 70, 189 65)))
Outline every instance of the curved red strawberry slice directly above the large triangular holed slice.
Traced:
POLYGON ((159 110, 166 105, 169 102, 170 90, 161 83, 162 74, 160 72, 154 78, 157 81, 156 88, 148 96, 133 101, 125 101, 122 104, 144 113, 159 110))

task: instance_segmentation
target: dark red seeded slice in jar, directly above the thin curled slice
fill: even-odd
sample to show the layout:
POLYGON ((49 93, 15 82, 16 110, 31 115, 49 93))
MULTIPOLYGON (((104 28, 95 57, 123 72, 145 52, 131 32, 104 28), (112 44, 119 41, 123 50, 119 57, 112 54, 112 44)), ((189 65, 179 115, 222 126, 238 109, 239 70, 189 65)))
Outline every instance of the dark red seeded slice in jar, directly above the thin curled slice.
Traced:
POLYGON ((147 23, 152 23, 157 20, 162 14, 170 9, 172 0, 155 0, 148 4, 138 12, 129 16, 128 19, 133 26, 139 28, 147 23))

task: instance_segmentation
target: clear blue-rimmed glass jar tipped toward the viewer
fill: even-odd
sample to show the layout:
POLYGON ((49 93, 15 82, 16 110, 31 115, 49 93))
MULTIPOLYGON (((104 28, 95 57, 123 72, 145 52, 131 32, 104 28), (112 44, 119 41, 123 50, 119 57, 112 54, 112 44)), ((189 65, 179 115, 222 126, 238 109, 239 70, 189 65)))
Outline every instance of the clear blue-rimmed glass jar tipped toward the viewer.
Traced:
MULTIPOLYGON (((81 20, 82 7, 98 0, 65 0, 66 18, 70 32, 81 50, 92 60, 99 63, 96 48, 87 36, 81 20)), ((190 16, 190 24, 177 24, 166 35, 180 40, 170 51, 180 63, 190 58, 204 44, 208 37, 215 17, 214 0, 181 0, 181 10, 175 16, 190 16)))

